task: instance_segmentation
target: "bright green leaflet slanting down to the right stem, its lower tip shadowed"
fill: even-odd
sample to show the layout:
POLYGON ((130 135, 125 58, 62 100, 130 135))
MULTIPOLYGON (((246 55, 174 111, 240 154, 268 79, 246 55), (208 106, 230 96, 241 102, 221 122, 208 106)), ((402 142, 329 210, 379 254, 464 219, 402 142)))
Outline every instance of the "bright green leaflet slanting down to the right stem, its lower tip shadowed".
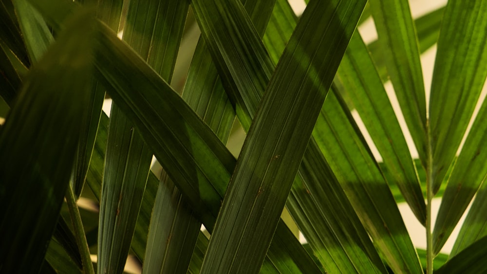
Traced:
POLYGON ((392 175, 416 218, 425 225, 426 204, 406 139, 358 32, 341 60, 336 80, 341 82, 360 114, 382 156, 383 166, 392 175))

